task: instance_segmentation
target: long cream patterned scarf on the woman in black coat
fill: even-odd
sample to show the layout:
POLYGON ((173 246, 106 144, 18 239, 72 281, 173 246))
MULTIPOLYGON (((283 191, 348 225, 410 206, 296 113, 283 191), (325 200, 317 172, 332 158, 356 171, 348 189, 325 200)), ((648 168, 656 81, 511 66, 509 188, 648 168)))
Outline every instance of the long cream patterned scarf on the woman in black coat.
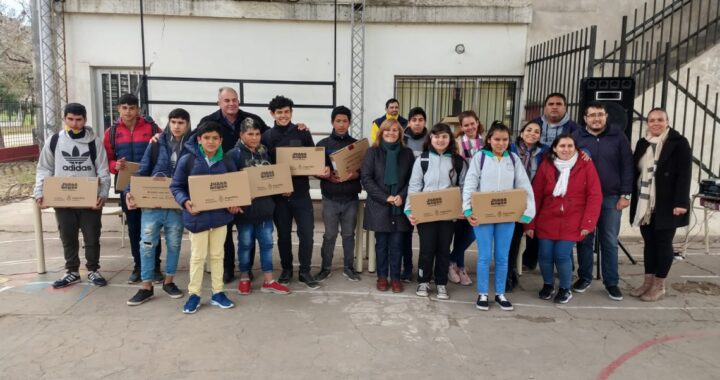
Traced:
POLYGON ((666 128, 660 136, 649 134, 645 136, 645 140, 650 143, 650 146, 638 162, 640 177, 638 178, 637 209, 632 222, 634 227, 650 224, 650 218, 655 210, 655 170, 657 170, 657 161, 669 130, 670 127, 666 128))

